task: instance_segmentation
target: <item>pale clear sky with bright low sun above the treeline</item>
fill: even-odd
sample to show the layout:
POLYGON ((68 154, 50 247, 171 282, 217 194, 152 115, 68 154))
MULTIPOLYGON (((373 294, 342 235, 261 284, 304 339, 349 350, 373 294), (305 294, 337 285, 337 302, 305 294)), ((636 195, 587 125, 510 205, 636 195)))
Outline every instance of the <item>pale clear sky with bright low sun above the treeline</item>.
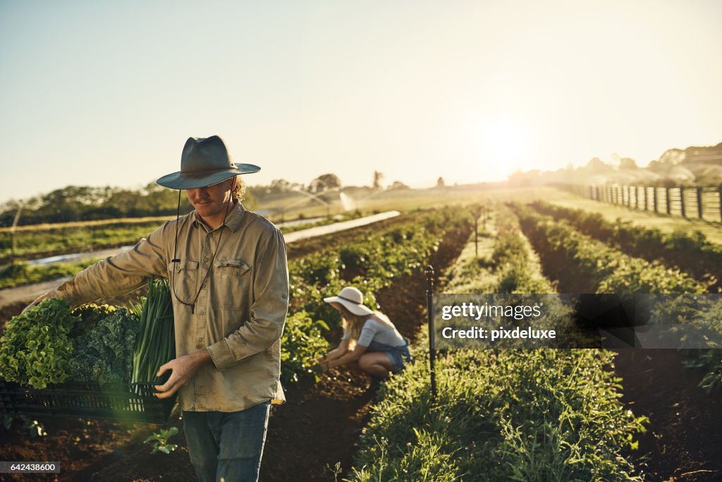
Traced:
POLYGON ((0 202, 139 187, 219 134, 253 184, 491 181, 722 141, 722 1, 0 0, 0 202))

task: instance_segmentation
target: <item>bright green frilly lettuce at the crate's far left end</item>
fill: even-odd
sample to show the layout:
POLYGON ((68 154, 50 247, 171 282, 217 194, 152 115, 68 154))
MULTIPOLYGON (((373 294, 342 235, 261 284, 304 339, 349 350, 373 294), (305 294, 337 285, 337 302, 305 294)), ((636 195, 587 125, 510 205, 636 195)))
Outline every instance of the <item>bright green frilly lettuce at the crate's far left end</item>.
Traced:
POLYGON ((33 388, 66 382, 73 353, 69 335, 77 320, 59 298, 45 298, 10 319, 0 338, 0 377, 33 388))

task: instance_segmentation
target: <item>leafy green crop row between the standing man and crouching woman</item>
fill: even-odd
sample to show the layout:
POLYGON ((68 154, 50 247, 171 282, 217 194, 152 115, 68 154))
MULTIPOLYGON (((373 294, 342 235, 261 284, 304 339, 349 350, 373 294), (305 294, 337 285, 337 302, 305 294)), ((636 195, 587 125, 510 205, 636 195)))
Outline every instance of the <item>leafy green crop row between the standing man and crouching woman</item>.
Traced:
POLYGON ((289 263, 290 315, 282 337, 282 381, 315 376, 312 366, 329 350, 328 338, 340 335, 338 312, 323 302, 344 285, 360 288, 367 306, 404 275, 419 270, 444 234, 468 225, 460 209, 422 212, 414 218, 342 246, 289 263))

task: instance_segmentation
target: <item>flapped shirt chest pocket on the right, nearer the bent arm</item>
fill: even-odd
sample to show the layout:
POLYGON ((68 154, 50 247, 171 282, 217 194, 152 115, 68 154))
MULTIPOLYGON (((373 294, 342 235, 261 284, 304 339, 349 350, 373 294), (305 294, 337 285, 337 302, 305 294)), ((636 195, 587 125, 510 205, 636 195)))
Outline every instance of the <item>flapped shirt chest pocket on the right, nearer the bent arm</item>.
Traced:
POLYGON ((213 263, 211 302, 215 306, 245 311, 251 288, 251 266, 243 259, 220 259, 213 263))

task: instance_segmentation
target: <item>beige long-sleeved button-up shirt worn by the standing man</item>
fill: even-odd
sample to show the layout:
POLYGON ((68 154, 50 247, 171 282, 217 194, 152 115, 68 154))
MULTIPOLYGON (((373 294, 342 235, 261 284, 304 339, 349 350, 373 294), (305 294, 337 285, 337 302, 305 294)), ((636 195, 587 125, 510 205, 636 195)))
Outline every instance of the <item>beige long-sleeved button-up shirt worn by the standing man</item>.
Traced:
POLYGON ((51 296, 72 305, 167 277, 173 292, 176 356, 206 349, 213 364, 179 390, 181 410, 232 412, 285 401, 280 338, 288 310, 288 266, 281 231, 238 203, 225 225, 209 228, 195 211, 168 221, 133 249, 108 257, 51 296), (195 307, 186 306, 195 301, 195 307))

